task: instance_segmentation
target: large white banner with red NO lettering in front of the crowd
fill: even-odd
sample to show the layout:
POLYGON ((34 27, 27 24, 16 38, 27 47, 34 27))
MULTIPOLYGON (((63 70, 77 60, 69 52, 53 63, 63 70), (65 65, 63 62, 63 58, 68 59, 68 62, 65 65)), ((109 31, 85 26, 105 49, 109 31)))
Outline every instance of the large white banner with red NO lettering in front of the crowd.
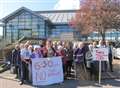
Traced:
POLYGON ((33 85, 50 85, 63 82, 63 67, 61 57, 33 58, 33 85))

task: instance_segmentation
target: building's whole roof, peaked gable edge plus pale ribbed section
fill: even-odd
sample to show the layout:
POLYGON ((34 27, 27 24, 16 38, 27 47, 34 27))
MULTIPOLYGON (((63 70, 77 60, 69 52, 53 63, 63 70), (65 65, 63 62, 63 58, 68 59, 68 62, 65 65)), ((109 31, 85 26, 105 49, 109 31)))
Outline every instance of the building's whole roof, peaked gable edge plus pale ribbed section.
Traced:
MULTIPOLYGON (((32 11, 25 7, 21 7, 13 13, 2 19, 2 22, 10 20, 10 18, 16 16, 20 11, 28 11, 33 15, 43 18, 44 20, 49 20, 54 24, 68 24, 69 21, 75 16, 76 11, 78 10, 51 10, 51 11, 32 11)), ((18 14, 19 15, 19 14, 18 14)))

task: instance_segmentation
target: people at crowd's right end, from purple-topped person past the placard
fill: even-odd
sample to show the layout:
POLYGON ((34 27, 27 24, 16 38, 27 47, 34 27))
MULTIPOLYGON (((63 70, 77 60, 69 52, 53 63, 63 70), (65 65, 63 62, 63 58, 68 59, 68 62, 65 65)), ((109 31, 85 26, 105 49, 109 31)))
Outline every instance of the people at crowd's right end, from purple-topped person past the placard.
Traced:
POLYGON ((93 41, 85 44, 84 42, 78 42, 74 48, 74 62, 76 77, 78 79, 98 79, 99 73, 99 61, 94 60, 93 50, 98 48, 106 48, 108 50, 108 61, 102 61, 102 71, 113 72, 113 46, 109 41, 93 41))

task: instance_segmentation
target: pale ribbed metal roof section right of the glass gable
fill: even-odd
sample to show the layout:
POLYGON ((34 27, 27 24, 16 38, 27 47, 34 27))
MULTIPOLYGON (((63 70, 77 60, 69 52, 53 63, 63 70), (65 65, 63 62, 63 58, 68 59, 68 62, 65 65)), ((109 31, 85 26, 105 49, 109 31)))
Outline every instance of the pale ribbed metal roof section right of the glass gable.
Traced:
POLYGON ((52 23, 69 23, 77 10, 34 11, 37 15, 47 17, 52 23))

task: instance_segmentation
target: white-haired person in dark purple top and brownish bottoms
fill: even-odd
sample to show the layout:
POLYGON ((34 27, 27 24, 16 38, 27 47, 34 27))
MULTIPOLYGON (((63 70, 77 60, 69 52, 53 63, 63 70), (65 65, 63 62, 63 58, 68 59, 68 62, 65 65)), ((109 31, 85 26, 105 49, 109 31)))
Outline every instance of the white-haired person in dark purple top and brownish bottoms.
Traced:
POLYGON ((84 62, 84 43, 79 42, 78 49, 74 52, 75 54, 75 69, 76 69, 76 77, 80 80, 87 79, 86 75, 86 68, 85 68, 85 62, 84 62))

